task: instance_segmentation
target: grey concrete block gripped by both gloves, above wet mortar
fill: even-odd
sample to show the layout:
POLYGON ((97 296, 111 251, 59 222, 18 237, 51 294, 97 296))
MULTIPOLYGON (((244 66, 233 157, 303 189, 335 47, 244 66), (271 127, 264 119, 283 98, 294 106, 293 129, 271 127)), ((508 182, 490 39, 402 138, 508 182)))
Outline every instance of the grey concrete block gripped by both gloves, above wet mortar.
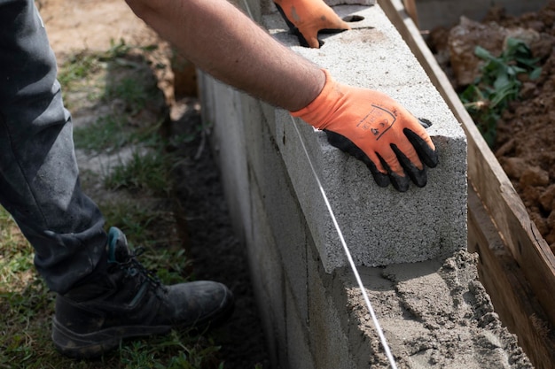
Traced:
POLYGON ((434 125, 428 132, 440 165, 428 171, 426 188, 412 186, 406 193, 391 186, 379 188, 363 163, 332 148, 322 132, 301 121, 293 123, 286 111, 277 111, 276 142, 325 270, 345 265, 346 258, 317 190, 315 174, 357 265, 446 258, 465 249, 466 141, 462 128, 379 6, 345 5, 334 10, 342 17, 354 14, 363 20, 353 23, 351 31, 328 35, 318 50, 297 46, 296 38, 280 28, 277 14, 265 17, 264 22, 272 35, 327 68, 336 80, 379 89, 415 116, 430 119, 434 125))

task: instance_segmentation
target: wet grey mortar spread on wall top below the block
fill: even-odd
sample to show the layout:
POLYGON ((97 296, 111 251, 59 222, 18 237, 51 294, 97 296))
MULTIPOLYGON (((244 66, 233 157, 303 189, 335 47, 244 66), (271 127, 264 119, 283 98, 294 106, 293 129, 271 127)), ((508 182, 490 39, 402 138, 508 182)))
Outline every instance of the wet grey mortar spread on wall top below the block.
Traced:
MULTIPOLYGON (((399 368, 531 368, 516 336, 502 327, 478 281, 477 255, 457 252, 444 262, 361 268, 363 284, 399 368)), ((357 367, 387 368, 371 316, 355 280, 343 275, 358 329, 349 339, 357 367)), ((351 320, 350 324, 353 324, 351 320)))

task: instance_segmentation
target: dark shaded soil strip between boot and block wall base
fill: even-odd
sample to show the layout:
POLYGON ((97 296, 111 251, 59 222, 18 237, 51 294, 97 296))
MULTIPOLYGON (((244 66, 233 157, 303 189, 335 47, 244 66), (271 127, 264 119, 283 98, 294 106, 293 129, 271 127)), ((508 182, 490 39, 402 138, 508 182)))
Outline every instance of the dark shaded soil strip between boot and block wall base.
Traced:
MULTIPOLYGON (((187 109, 179 119, 172 120, 172 135, 192 134, 201 122, 199 104, 196 99, 185 98, 176 105, 187 109)), ((195 141, 176 148, 181 151, 180 158, 184 158, 176 166, 176 183, 179 183, 176 196, 186 216, 194 276, 200 280, 221 281, 235 296, 231 320, 215 332, 225 367, 254 368, 260 364, 269 368, 248 261, 242 244, 233 234, 207 135, 207 132, 197 135, 195 141)))

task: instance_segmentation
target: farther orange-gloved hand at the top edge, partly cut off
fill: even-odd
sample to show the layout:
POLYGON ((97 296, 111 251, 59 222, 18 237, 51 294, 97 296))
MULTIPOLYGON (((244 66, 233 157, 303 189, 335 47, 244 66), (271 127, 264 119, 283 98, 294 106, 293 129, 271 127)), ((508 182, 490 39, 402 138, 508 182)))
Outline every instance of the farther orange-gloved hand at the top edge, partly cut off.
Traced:
POLYGON ((319 49, 318 32, 350 29, 324 0, 274 0, 274 4, 301 46, 319 49))

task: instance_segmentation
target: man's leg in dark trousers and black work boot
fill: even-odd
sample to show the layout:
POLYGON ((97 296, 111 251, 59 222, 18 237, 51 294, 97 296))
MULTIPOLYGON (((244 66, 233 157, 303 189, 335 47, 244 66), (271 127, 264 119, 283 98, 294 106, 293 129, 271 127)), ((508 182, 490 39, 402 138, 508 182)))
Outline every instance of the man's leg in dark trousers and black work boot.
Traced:
POLYGON ((52 339, 70 357, 97 357, 121 339, 223 321, 233 295, 221 283, 164 286, 103 230, 82 194, 72 125, 33 0, 0 0, 0 202, 35 248, 58 292, 52 339))

